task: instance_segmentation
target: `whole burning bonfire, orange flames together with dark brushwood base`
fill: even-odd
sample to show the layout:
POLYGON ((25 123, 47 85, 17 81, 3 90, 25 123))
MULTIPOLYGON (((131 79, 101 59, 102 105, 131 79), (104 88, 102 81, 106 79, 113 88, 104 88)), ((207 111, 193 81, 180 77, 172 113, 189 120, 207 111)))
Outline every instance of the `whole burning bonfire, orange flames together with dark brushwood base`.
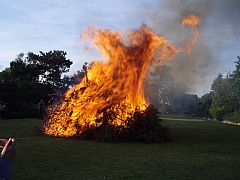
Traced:
MULTIPOLYGON (((193 17, 198 19, 188 16, 190 20, 183 24, 196 31, 200 20, 196 23, 193 17)), ((93 61, 89 69, 85 66, 84 80, 47 108, 42 132, 101 141, 169 140, 169 127, 145 100, 143 79, 153 63, 190 51, 189 44, 196 39, 185 50, 177 49, 145 26, 125 35, 89 27, 81 37, 90 39, 106 60, 93 61)))

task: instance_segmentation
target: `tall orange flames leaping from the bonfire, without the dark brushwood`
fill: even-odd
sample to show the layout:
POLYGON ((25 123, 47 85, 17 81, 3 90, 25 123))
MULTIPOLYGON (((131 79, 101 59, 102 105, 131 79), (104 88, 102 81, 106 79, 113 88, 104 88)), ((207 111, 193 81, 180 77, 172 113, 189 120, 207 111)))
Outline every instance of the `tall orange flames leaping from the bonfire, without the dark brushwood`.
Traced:
MULTIPOLYGON (((183 24, 198 24, 190 21, 183 24)), ((100 126, 101 117, 109 109, 117 114, 111 123, 124 125, 131 112, 145 110, 148 105, 142 89, 148 68, 154 62, 170 60, 180 51, 146 26, 124 36, 118 31, 89 27, 81 37, 89 38, 106 60, 94 61, 89 69, 85 67, 85 79, 69 89, 60 102, 48 107, 45 134, 81 134, 89 126, 100 126)))

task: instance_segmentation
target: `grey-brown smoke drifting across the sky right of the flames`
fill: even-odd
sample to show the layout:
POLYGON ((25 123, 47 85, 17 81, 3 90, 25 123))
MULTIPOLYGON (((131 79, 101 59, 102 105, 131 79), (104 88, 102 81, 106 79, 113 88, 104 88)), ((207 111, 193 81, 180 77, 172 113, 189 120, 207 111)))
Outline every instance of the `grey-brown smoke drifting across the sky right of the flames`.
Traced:
POLYGON ((181 26, 187 14, 194 13, 202 21, 198 40, 190 55, 179 53, 164 64, 172 67, 176 81, 190 87, 189 93, 203 95, 209 92, 218 73, 234 68, 240 54, 240 1, 165 1, 153 15, 157 33, 169 43, 184 47, 191 29, 181 26), (239 54, 234 54, 239 49, 239 54), (229 67, 229 61, 232 67, 229 67), (228 63, 228 64, 227 64, 228 63), (224 69, 224 71, 222 71, 224 69))

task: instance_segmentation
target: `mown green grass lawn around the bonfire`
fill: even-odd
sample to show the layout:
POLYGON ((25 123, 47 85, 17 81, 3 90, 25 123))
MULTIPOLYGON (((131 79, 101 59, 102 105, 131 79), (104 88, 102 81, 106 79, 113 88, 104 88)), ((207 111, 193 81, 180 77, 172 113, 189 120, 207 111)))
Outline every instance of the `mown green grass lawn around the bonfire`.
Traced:
POLYGON ((0 121, 0 138, 17 139, 17 180, 238 180, 240 126, 163 116, 171 142, 102 143, 37 135, 43 121, 0 121))

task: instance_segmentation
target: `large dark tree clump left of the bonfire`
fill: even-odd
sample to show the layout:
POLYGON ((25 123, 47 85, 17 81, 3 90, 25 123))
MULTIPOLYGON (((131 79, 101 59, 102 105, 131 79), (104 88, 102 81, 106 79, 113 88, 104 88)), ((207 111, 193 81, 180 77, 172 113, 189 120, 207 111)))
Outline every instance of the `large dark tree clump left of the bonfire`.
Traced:
POLYGON ((66 90, 73 84, 69 72, 72 61, 60 50, 39 54, 20 53, 10 67, 0 72, 0 100, 8 102, 12 111, 36 108, 40 99, 49 100, 49 94, 66 90))

